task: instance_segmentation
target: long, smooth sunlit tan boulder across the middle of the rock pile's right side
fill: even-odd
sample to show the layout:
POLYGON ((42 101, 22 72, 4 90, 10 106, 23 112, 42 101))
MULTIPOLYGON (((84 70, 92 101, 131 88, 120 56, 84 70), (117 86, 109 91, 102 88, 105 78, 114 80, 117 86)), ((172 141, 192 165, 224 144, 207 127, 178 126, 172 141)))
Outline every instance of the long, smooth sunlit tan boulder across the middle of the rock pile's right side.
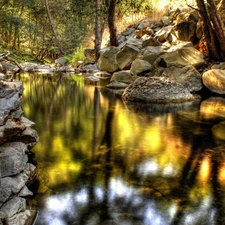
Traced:
POLYGON ((167 52, 154 62, 153 66, 161 67, 184 67, 192 65, 194 67, 201 66, 205 63, 203 54, 193 47, 183 47, 172 52, 167 52))

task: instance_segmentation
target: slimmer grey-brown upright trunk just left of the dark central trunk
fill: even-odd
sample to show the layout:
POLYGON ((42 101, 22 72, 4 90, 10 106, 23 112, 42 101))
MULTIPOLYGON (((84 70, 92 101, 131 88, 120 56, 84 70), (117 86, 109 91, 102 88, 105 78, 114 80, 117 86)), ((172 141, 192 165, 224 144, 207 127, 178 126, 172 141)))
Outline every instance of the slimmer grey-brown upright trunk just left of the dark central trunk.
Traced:
POLYGON ((95 1, 96 6, 96 18, 95 18, 95 61, 99 58, 99 52, 102 44, 102 32, 101 32, 101 6, 100 0, 95 1))

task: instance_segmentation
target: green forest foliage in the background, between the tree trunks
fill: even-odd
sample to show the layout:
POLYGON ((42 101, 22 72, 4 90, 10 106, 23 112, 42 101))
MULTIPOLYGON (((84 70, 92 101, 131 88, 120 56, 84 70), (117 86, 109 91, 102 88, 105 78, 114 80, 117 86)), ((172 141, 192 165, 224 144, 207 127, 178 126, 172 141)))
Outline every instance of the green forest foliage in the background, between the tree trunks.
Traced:
MULTIPOLYGON (((121 16, 149 13, 153 0, 117 1, 116 21, 121 16)), ((158 0, 157 0, 158 1, 158 0)), ((72 61, 83 58, 82 48, 94 45, 95 0, 49 0, 49 9, 60 43, 72 61), (74 49, 77 49, 74 52, 74 49)), ((108 0, 101 2, 101 20, 105 21, 108 0)), ((37 59, 52 60, 60 51, 53 35, 44 0, 0 0, 0 48, 27 52, 37 59)), ((104 26, 102 26, 104 27, 104 26)))

